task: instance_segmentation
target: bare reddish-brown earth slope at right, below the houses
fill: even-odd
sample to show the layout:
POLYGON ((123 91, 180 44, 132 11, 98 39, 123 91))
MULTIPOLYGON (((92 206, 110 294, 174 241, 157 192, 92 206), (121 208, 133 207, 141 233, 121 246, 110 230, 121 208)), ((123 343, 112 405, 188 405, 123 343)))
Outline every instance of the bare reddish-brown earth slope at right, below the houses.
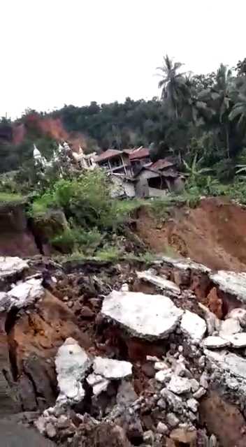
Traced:
POLYGON ((229 200, 205 198, 195 209, 175 208, 162 224, 141 209, 136 228, 156 253, 189 257, 215 270, 246 268, 246 208, 229 200))

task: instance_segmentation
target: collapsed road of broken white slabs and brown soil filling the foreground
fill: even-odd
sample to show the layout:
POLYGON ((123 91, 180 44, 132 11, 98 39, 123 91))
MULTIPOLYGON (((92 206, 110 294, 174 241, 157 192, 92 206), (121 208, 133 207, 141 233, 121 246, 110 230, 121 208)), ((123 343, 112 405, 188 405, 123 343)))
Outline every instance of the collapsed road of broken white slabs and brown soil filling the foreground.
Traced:
POLYGON ((245 273, 1 257, 0 285, 10 446, 246 445, 245 273))

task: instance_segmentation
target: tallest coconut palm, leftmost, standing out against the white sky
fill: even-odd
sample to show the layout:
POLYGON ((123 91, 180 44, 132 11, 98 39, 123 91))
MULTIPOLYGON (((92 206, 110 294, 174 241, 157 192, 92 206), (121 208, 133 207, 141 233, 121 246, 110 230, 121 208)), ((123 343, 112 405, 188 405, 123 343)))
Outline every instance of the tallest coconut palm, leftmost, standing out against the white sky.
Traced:
POLYGON ((181 62, 173 62, 166 54, 164 56, 164 64, 161 67, 157 67, 157 70, 161 71, 161 73, 158 73, 161 76, 158 85, 159 89, 161 89, 161 98, 166 101, 168 111, 175 118, 180 117, 182 100, 187 92, 185 73, 178 72, 182 65, 181 62))

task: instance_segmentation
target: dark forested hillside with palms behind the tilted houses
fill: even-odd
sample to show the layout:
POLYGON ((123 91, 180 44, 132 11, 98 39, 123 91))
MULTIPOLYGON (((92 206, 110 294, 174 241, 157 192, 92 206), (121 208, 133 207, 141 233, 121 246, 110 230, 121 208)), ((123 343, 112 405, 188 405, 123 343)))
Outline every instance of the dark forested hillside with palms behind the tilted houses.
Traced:
POLYGON ((160 98, 64 105, 49 114, 27 110, 15 122, 2 118, 1 173, 31 163, 34 142, 49 159, 57 141, 71 140, 87 152, 144 145, 153 160, 171 154, 188 171, 210 169, 228 182, 246 165, 246 59, 206 75, 182 68, 164 57, 157 68, 160 98))

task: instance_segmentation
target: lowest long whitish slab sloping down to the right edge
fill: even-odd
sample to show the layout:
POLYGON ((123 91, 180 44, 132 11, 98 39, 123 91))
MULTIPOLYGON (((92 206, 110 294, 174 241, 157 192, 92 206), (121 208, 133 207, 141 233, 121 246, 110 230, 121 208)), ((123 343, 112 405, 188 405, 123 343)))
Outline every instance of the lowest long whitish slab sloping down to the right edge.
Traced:
POLYGON ((222 371, 229 371, 234 376, 246 379, 246 359, 227 351, 204 350, 210 362, 214 362, 222 371))

